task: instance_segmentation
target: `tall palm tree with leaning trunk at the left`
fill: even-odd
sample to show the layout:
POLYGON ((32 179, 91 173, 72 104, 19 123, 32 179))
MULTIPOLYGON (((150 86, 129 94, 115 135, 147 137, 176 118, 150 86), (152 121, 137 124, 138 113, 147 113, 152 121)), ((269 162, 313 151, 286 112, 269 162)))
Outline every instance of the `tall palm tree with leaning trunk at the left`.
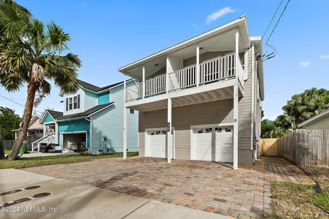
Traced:
POLYGON ((45 25, 13 1, 0 1, 0 84, 14 92, 27 83, 22 125, 8 159, 16 159, 19 153, 34 105, 50 94, 47 80, 53 80, 62 92, 76 92, 81 61, 73 53, 62 55, 69 49, 69 40, 56 23, 45 25))

